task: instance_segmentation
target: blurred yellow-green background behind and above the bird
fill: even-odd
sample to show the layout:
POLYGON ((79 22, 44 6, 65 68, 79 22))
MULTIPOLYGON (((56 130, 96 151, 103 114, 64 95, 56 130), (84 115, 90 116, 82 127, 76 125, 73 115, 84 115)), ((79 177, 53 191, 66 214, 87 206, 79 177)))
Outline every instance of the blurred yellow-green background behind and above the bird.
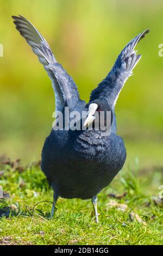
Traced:
MULTIPOLYGON (((106 76, 122 48, 146 28, 135 75, 116 105, 118 134, 127 165, 163 166, 163 2, 127 0, 1 0, 0 155, 40 159, 52 127, 54 95, 45 70, 18 34, 11 15, 21 14, 45 36, 55 57, 78 85, 82 99, 106 76)), ((153 169, 152 169, 153 170, 153 169)))

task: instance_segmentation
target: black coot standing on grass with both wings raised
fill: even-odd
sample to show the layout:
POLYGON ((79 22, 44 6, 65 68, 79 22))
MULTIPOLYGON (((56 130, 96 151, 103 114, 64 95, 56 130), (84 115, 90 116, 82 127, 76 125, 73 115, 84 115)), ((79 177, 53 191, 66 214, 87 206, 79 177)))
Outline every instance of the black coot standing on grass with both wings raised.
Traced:
MULTIPOLYGON (((86 104, 80 100, 76 84, 57 62, 39 31, 23 16, 12 16, 12 18, 16 29, 32 47, 52 80, 56 110, 65 114, 65 106, 67 106, 70 111, 79 113, 87 111, 84 126, 93 124, 92 130, 88 128, 85 130, 52 129, 45 140, 41 168, 54 190, 51 215, 54 214, 59 196, 92 198, 96 222, 98 222, 97 194, 110 184, 126 160, 123 139, 116 135, 115 104, 124 83, 141 58, 140 54, 136 55, 134 48, 149 29, 137 35, 124 47, 113 68, 92 91, 90 101, 86 104), (104 134, 105 130, 101 129, 101 124, 106 123, 106 115, 102 121, 98 119, 100 120, 98 121, 99 129, 95 127, 95 112, 101 115, 102 111, 104 114, 107 111, 111 113, 111 130, 107 135, 104 134)), ((80 123, 81 120, 79 120, 80 123)))

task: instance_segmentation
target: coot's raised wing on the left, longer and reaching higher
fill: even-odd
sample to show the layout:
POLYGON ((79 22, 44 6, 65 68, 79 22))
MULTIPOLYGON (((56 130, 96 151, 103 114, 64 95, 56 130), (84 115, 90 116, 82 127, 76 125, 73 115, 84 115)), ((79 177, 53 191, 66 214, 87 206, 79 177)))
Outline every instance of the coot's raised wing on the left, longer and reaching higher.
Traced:
POLYGON ((73 108, 79 101, 79 93, 72 78, 57 62, 48 43, 32 23, 21 15, 19 17, 12 16, 12 18, 16 29, 32 47, 52 80, 56 110, 61 111, 65 105, 73 108))

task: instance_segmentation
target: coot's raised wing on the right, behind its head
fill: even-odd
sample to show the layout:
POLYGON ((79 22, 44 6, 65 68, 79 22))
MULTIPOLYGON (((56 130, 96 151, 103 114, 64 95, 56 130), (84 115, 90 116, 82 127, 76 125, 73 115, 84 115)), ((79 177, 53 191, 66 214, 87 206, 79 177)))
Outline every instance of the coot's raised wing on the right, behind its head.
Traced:
POLYGON ((132 74, 133 69, 141 58, 140 54, 136 55, 134 48, 137 42, 139 42, 148 32, 149 29, 146 29, 124 47, 109 74, 98 84, 97 88, 92 90, 90 102, 99 98, 106 99, 110 106, 114 108, 124 83, 132 74))

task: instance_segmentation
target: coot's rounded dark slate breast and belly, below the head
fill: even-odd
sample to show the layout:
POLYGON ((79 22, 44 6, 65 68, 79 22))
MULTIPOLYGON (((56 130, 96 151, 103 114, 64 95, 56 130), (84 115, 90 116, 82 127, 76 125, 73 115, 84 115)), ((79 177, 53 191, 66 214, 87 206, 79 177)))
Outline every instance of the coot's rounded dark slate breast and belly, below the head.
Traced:
POLYGON ((64 132, 60 141, 56 131, 46 139, 42 170, 61 197, 91 198, 122 168, 126 160, 123 140, 113 134, 101 137, 98 131, 64 132), (62 143, 64 135, 67 140, 62 143))

